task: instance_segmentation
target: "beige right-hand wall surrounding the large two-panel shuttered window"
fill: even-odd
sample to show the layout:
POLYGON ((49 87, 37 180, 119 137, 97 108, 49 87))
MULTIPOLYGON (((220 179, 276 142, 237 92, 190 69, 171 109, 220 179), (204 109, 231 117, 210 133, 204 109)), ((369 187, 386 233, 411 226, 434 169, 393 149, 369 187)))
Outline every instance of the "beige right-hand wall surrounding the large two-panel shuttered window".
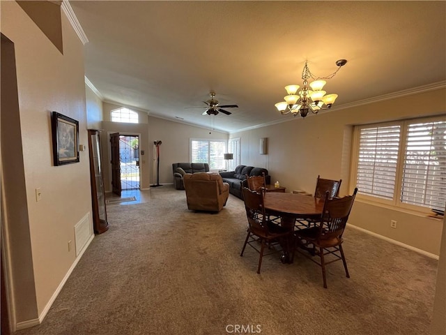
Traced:
MULTIPOLYGON (((349 185, 353 125, 442 113, 446 117, 445 95, 445 89, 438 89, 305 119, 284 115, 292 121, 233 133, 230 137, 241 138, 241 163, 265 166, 272 180, 279 180, 288 191, 303 189, 314 193, 316 177, 321 174, 324 178, 342 178, 341 194, 346 194, 355 187, 349 185), (259 154, 260 137, 268 137, 268 157, 259 154)), ((442 221, 357 199, 349 223, 434 255, 440 252, 442 221), (391 219, 398 221, 397 229, 390 228, 391 219)))

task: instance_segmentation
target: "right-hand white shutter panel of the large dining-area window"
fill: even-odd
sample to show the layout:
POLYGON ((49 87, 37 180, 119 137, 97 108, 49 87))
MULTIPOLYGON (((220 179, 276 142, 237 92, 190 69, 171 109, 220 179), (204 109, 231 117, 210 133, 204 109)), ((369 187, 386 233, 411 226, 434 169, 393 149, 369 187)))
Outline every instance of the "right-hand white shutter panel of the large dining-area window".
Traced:
POLYGON ((445 209, 446 122, 407 126, 401 202, 445 209))

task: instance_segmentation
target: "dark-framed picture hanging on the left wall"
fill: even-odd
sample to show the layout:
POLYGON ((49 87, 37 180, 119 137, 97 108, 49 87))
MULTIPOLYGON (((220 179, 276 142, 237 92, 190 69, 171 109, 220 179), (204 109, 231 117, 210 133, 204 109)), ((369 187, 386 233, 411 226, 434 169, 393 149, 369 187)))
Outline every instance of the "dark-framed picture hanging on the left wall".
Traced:
POLYGON ((54 165, 79 162, 79 121, 58 112, 51 115, 54 165))

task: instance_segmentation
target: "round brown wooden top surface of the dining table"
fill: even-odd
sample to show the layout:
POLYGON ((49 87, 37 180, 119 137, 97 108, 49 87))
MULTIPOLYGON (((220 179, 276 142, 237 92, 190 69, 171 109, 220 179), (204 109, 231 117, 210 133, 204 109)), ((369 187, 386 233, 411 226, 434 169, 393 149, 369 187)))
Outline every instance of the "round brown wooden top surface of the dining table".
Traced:
POLYGON ((277 211, 296 217, 321 215, 324 200, 295 193, 265 193, 263 204, 267 211, 277 211))

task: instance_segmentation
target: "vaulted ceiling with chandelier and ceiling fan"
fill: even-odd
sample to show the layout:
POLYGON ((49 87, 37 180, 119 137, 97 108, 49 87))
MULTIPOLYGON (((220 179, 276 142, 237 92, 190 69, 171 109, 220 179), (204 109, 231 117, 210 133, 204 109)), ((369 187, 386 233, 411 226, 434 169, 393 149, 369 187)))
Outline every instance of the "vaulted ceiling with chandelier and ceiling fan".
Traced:
POLYGON ((89 39, 85 72, 104 101, 235 132, 274 124, 302 68, 331 112, 446 80, 445 1, 70 1, 89 39), (209 91, 226 116, 201 115, 209 91))

